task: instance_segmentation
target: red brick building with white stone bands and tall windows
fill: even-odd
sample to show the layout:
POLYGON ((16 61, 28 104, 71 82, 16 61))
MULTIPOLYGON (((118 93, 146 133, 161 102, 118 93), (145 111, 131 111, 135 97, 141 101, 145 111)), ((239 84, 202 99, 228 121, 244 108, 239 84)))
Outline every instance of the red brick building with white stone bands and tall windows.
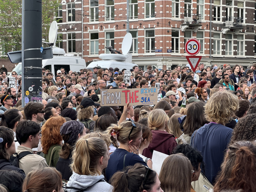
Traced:
MULTIPOLYGON (((101 53, 109 53, 105 46, 121 51, 127 24, 125 0, 61 3, 62 8, 67 8, 62 10, 58 34, 63 40, 58 43, 67 53, 79 53, 88 62, 99 59, 101 53), (75 20, 67 21, 72 14, 75 20), (79 20, 82 15, 83 23, 79 20), (75 40, 69 34, 75 34, 75 40), (68 51, 71 45, 75 52, 68 51)), ((130 53, 133 63, 143 68, 153 65, 171 69, 187 64, 184 45, 190 38, 200 41, 199 55, 205 65, 255 63, 254 0, 129 0, 129 7, 133 36, 130 53)))

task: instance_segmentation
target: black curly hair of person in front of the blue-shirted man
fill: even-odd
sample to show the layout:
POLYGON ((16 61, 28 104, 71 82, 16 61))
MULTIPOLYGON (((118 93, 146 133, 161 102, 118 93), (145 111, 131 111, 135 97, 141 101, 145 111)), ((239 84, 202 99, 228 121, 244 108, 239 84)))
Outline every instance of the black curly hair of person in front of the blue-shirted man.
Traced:
POLYGON ((192 147, 190 144, 179 144, 175 147, 175 149, 172 151, 172 154, 182 153, 184 154, 191 162, 194 171, 198 171, 198 165, 201 163, 202 172, 204 175, 204 161, 203 161, 203 155, 201 155, 201 152, 192 147))

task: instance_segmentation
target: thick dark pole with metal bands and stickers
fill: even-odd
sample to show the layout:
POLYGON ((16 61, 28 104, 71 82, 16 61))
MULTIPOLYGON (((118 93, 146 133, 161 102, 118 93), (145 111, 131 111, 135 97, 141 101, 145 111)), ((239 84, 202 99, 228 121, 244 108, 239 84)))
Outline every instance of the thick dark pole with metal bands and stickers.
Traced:
POLYGON ((23 0, 23 3, 22 107, 30 101, 42 101, 42 2, 23 0))

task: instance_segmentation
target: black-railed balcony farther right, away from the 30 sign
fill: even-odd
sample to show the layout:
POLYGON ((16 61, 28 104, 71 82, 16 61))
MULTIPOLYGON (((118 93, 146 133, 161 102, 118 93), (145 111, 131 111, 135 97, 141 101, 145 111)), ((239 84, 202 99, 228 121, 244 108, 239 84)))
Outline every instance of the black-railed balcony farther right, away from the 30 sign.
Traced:
POLYGON ((226 34, 228 31, 239 33, 243 29, 243 20, 241 17, 224 17, 223 18, 223 32, 226 34))

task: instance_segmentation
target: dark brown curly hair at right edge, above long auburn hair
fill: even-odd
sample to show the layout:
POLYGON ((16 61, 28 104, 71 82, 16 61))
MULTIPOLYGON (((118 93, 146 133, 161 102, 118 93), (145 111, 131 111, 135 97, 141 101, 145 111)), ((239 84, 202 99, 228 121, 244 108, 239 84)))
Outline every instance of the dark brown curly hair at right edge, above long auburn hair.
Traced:
POLYGON ((237 122, 229 144, 233 144, 236 141, 254 140, 256 140, 256 114, 250 114, 237 122))

